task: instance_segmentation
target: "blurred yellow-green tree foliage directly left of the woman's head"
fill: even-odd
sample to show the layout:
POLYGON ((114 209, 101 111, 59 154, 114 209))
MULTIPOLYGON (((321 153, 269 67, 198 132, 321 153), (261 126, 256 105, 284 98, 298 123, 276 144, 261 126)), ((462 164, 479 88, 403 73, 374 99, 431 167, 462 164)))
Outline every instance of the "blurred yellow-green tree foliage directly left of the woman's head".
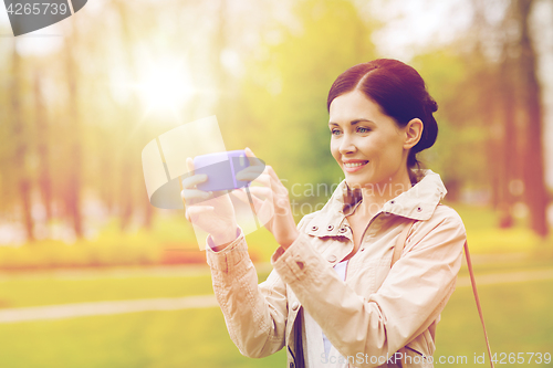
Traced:
POLYGON ((330 153, 326 96, 342 72, 375 57, 373 29, 346 0, 301 1, 294 14, 296 25, 279 30, 279 42, 247 67, 246 135, 289 188, 332 185, 342 171, 330 153))

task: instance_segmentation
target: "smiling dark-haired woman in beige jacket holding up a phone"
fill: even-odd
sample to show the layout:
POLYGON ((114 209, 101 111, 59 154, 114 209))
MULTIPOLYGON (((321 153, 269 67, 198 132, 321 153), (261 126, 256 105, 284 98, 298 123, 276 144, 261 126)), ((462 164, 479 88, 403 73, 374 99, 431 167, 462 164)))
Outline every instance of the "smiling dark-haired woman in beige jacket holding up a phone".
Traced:
MULTIPOLYGON (((324 208, 296 227, 270 166, 259 176, 264 188, 250 188, 258 212, 268 204, 263 193, 273 198, 265 227, 280 248, 265 282, 258 285, 230 199, 187 208, 210 233, 207 260, 230 337, 249 357, 286 346, 291 368, 432 367, 436 326, 466 241, 461 218, 441 203, 439 175, 416 158, 436 140, 437 104, 413 67, 380 59, 341 74, 327 108, 345 180, 324 208)), ((182 196, 206 198, 195 187, 205 180, 185 179, 182 196)))

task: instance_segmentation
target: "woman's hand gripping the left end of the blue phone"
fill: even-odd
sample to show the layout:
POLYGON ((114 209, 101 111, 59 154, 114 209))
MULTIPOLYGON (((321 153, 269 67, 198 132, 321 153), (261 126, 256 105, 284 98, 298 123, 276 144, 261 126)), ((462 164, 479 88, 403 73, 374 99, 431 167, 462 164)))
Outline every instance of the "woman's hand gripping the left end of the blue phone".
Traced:
MULTIPOLYGON (((186 159, 186 166, 189 172, 194 172, 194 161, 190 157, 186 159)), ((227 244, 237 238, 234 207, 229 193, 213 196, 213 192, 196 188, 207 179, 207 175, 200 174, 182 180, 184 189, 180 196, 186 201, 186 219, 211 234, 216 245, 227 244)))

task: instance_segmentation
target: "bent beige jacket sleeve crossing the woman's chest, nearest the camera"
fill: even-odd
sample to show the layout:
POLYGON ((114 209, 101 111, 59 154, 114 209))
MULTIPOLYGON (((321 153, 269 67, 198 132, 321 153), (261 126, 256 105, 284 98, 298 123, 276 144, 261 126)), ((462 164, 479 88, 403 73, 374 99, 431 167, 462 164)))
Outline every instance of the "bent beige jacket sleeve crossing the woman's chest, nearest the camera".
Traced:
MULTIPOLYGON (((389 357, 437 319, 455 290, 466 231, 452 212, 419 222, 409 249, 368 298, 338 278, 305 233, 271 262, 343 357, 389 357)), ((358 366, 377 364, 363 359, 358 366)))

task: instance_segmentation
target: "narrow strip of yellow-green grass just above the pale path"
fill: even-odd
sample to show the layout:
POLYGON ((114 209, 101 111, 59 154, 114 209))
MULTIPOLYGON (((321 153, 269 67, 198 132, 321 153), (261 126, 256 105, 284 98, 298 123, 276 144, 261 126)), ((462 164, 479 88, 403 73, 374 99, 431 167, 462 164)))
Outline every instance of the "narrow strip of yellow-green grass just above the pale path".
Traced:
MULTIPOLYGON (((479 275, 488 273, 551 270, 552 266, 550 260, 529 257, 518 262, 477 264, 474 272, 478 280, 479 275)), ((180 269, 181 272, 186 270, 180 269)), ((207 266, 199 270, 204 274, 171 275, 171 270, 168 270, 167 273, 148 275, 146 270, 125 273, 124 269, 117 272, 75 272, 74 276, 66 277, 60 277, 56 273, 10 274, 0 277, 0 308, 212 294, 207 266)), ((175 273, 178 272, 175 270, 175 273)), ((260 282, 267 275, 267 272, 260 273, 260 282)), ((467 276, 467 269, 462 267, 459 275, 467 276)))

